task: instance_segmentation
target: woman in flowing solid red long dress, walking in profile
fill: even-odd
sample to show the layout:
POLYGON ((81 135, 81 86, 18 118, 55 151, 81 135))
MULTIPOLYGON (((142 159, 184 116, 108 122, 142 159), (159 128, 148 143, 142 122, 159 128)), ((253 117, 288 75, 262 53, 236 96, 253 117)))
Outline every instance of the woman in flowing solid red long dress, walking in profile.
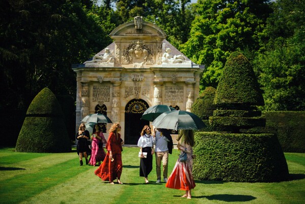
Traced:
POLYGON ((103 181, 109 181, 110 184, 114 184, 113 180, 115 179, 117 179, 118 184, 123 184, 120 181, 120 176, 123 169, 121 152, 123 151, 122 145, 124 141, 118 133, 120 129, 121 127, 118 123, 111 126, 106 143, 107 155, 100 167, 94 172, 103 181))

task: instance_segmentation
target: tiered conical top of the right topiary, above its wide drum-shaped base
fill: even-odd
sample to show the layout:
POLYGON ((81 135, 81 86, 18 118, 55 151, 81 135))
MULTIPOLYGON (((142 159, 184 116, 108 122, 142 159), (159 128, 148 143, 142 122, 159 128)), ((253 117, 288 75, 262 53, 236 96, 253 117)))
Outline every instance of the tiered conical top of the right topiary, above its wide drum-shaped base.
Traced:
POLYGON ((239 132, 242 128, 264 126, 256 106, 264 105, 264 99, 253 68, 240 52, 233 52, 223 69, 217 86, 214 103, 216 110, 209 117, 215 131, 239 132))

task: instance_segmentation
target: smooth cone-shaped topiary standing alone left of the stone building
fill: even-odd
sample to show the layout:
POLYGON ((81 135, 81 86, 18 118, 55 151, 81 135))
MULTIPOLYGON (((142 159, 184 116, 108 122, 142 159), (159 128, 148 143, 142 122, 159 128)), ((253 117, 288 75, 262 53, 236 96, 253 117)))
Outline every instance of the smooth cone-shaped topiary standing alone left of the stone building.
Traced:
POLYGON ((63 111, 55 95, 44 88, 29 105, 20 130, 17 152, 71 152, 63 111))

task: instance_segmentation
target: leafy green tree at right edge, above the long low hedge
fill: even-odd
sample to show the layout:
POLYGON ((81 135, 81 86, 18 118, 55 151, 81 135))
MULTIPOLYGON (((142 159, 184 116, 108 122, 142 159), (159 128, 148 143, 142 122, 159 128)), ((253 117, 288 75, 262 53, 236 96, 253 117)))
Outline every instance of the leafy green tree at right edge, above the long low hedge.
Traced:
POLYGON ((278 0, 254 61, 265 110, 305 110, 305 5, 278 0))

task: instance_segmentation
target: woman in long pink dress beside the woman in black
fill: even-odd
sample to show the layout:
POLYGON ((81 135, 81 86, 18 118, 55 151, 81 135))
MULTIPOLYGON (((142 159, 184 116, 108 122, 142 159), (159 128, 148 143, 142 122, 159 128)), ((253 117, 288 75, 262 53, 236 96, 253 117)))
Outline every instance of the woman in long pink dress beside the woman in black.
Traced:
POLYGON ((94 126, 94 130, 91 135, 91 156, 89 159, 89 164, 95 166, 97 162, 101 165, 101 161, 104 160, 106 153, 103 148, 103 144, 106 144, 106 139, 99 124, 94 126))

